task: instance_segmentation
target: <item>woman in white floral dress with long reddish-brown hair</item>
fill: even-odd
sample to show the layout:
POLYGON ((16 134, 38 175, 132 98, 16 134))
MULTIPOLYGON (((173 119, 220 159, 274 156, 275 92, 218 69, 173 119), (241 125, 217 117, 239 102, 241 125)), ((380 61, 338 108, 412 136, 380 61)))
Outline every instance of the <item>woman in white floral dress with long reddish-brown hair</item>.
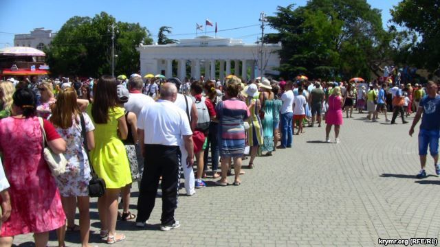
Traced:
MULTIPOLYGON (((57 101, 52 107, 50 121, 56 127, 56 132, 67 141, 65 157, 68 161, 65 174, 56 177, 56 184, 61 193, 63 208, 67 216, 67 230, 75 231, 76 201, 80 211, 81 243, 87 246, 89 242, 89 181, 91 179, 88 150, 83 145, 83 133, 80 120, 83 115, 87 145, 94 148, 94 125, 87 113, 81 113, 76 104, 76 92, 72 87, 60 91, 57 101)), ((64 228, 63 228, 64 229, 64 228)), ((64 245, 65 231, 58 233, 58 242, 64 245)))

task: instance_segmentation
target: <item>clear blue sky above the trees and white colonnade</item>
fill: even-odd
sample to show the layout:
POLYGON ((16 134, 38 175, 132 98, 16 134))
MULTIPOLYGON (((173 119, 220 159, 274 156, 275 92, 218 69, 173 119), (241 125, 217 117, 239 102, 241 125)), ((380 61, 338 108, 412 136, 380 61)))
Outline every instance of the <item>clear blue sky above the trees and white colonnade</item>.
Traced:
MULTIPOLYGON (((389 10, 399 2, 398 0, 367 1, 373 8, 382 10, 384 26, 391 18, 389 10)), ((287 6, 291 3, 305 5, 306 2, 306 0, 0 0, 1 12, 4 14, 0 21, 0 47, 13 45, 12 34, 28 34, 36 27, 45 27, 56 32, 72 16, 94 16, 101 11, 111 14, 118 21, 140 23, 151 32, 154 40, 157 39, 159 27, 163 25, 173 27, 173 34, 190 34, 172 34, 169 38, 193 38, 195 23, 204 26, 205 19, 210 19, 214 25, 217 22, 219 30, 217 36, 241 38, 246 43, 252 43, 261 35, 258 25, 220 31, 258 24, 261 11, 273 15, 278 5, 287 6)), ((208 27, 209 31, 214 31, 214 27, 208 27)), ((266 31, 273 32, 273 30, 266 31)))

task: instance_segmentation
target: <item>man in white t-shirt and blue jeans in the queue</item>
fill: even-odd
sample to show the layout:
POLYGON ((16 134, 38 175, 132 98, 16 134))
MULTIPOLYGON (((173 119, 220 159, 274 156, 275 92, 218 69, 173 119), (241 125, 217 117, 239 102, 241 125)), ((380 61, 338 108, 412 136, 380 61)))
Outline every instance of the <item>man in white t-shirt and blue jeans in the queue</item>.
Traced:
POLYGON ((276 148, 292 148, 292 117, 294 115, 294 109, 292 108, 294 104, 294 92, 292 91, 293 82, 289 81, 285 84, 285 92, 281 95, 281 101, 283 105, 280 110, 280 120, 281 120, 281 145, 276 148))

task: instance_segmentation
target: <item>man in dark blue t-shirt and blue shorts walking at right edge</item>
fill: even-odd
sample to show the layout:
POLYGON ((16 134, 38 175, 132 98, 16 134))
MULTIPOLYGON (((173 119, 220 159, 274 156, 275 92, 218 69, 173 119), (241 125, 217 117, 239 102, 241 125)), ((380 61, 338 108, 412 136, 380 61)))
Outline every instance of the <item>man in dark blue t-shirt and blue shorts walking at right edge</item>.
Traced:
POLYGON ((419 131, 419 156, 421 171, 417 174, 417 178, 425 178, 426 154, 428 154, 428 145, 432 158, 434 158, 435 172, 440 175, 439 161, 439 137, 440 137, 440 95, 437 94, 437 84, 429 81, 426 89, 428 95, 420 100, 417 114, 412 121, 410 128, 410 136, 414 133, 414 128, 421 119, 419 131))

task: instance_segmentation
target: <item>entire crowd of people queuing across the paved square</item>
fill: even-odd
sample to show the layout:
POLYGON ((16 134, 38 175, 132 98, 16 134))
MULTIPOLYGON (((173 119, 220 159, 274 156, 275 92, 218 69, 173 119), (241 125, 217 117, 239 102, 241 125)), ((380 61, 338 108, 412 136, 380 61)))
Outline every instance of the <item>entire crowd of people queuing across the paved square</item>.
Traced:
POLYGON ((99 235, 107 244, 125 239, 115 231, 118 220, 135 220, 141 228, 147 224, 159 183, 160 229, 177 228, 181 174, 187 196, 206 187, 208 175, 219 187, 239 186, 243 159, 249 159, 249 169, 258 167, 256 157, 292 148, 294 134, 305 134, 307 127, 320 128, 325 121, 325 142, 332 142, 333 128, 334 143, 340 143, 344 113, 352 118, 355 108, 358 113, 366 110, 371 121, 384 114, 391 124, 398 114, 406 124, 405 117, 417 112, 410 134, 423 114, 422 169, 417 176, 426 176, 428 145, 440 174, 437 90, 433 82, 423 89, 388 78, 371 84, 283 78, 245 83, 230 76, 224 83, 203 77, 182 83, 178 78, 144 82, 133 74, 127 80, 104 75, 83 82, 2 81, 0 152, 6 175, 0 169, 0 245, 11 246, 15 235, 34 233, 36 246, 46 246, 48 232, 56 230, 59 246, 65 246, 66 231, 79 232, 81 244, 88 246, 89 181, 94 173, 105 182, 98 212, 99 235), (65 156, 65 172, 51 174, 45 149, 65 156), (133 182, 140 189, 138 215, 129 211, 133 182))

